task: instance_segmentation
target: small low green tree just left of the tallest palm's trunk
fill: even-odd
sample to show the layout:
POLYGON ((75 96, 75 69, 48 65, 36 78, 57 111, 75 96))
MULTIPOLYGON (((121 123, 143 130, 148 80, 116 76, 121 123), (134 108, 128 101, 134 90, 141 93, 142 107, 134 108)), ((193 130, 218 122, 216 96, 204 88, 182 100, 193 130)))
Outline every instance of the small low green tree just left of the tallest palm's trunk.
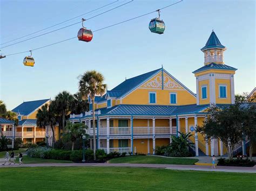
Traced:
POLYGON ((68 122, 65 126, 65 133, 63 134, 63 139, 66 141, 71 140, 72 148, 74 150, 75 142, 77 139, 82 138, 83 135, 86 135, 85 129, 88 127, 84 123, 70 123, 68 122))

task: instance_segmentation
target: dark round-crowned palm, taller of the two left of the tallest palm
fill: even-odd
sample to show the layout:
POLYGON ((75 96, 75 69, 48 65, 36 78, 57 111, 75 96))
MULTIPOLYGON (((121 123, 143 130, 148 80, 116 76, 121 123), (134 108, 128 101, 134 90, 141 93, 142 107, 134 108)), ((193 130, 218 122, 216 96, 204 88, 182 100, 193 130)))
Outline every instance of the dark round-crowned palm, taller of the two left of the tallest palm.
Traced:
POLYGON ((62 91, 55 97, 55 100, 52 101, 52 104, 54 105, 53 110, 62 116, 62 129, 65 127, 65 116, 69 115, 72 109, 73 100, 74 97, 72 94, 70 94, 68 91, 62 91))

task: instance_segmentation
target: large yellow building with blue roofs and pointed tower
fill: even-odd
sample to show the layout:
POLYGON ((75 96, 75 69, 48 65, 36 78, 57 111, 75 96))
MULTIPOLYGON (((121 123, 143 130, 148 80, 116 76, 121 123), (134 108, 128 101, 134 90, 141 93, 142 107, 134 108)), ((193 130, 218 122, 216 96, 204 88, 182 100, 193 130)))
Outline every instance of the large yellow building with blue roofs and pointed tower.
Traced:
MULTIPOLYGON (((194 126, 201 125, 211 103, 234 103, 235 68, 224 64, 224 51, 214 32, 206 45, 204 66, 195 70, 197 94, 163 67, 132 77, 95 98, 97 148, 107 153, 154 154, 156 146, 168 145, 171 135, 191 132, 196 155, 223 155, 223 143, 205 140, 194 126)), ((73 123, 89 126, 92 136, 92 103, 85 114, 70 115, 73 123)), ((92 145, 92 144, 91 144, 92 145)), ((238 148, 237 148, 238 149, 238 148)))

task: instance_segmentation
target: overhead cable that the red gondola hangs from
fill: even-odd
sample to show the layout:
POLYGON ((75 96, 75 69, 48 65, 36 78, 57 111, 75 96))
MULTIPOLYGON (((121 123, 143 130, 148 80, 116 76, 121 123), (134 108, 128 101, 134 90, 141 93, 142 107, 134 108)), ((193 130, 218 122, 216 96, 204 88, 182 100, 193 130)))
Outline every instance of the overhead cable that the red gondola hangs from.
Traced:
MULTIPOLYGON (((92 18, 98 17, 98 16, 100 16, 100 15, 103 15, 103 14, 106 13, 106 12, 112 11, 112 10, 114 10, 114 9, 119 8, 120 6, 124 6, 124 5, 128 4, 128 3, 131 3, 131 2, 133 2, 133 0, 131 0, 131 1, 127 2, 127 3, 124 3, 124 4, 122 4, 122 5, 116 6, 116 7, 112 8, 112 9, 109 9, 109 10, 106 10, 106 11, 104 11, 104 12, 101 12, 101 13, 99 13, 98 15, 95 15, 95 16, 92 16, 92 17, 90 17, 90 18, 87 18, 86 20, 90 20, 90 19, 92 19, 92 18)), ((31 38, 29 38, 29 39, 25 39, 25 40, 22 40, 22 41, 18 41, 17 43, 14 43, 14 44, 10 44, 10 45, 7 45, 7 46, 3 46, 3 47, 1 47, 0 49, 6 48, 6 47, 9 47, 9 46, 12 46, 12 45, 16 45, 16 44, 19 44, 19 43, 23 43, 24 41, 31 40, 31 39, 34 39, 34 38, 37 38, 37 37, 41 37, 41 36, 44 36, 45 34, 49 34, 49 33, 55 32, 55 31, 59 31, 59 30, 65 29, 65 28, 67 28, 67 27, 76 25, 76 24, 78 24, 78 23, 81 23, 81 21, 79 21, 79 22, 77 22, 77 23, 70 24, 70 25, 68 25, 68 26, 61 27, 61 28, 59 28, 59 29, 56 29, 56 30, 53 30, 53 31, 50 31, 50 32, 46 32, 46 33, 43 33, 43 34, 39 34, 38 36, 31 37, 31 38)))

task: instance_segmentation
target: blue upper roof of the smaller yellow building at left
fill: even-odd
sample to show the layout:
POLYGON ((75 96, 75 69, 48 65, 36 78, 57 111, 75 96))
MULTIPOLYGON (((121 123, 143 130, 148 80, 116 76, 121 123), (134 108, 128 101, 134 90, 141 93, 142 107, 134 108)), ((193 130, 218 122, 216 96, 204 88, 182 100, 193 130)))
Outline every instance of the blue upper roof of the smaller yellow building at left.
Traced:
POLYGON ((50 99, 23 102, 22 104, 14 108, 12 111, 16 112, 17 114, 19 113, 21 115, 29 115, 31 112, 41 107, 41 105, 48 102, 49 100, 50 99))

